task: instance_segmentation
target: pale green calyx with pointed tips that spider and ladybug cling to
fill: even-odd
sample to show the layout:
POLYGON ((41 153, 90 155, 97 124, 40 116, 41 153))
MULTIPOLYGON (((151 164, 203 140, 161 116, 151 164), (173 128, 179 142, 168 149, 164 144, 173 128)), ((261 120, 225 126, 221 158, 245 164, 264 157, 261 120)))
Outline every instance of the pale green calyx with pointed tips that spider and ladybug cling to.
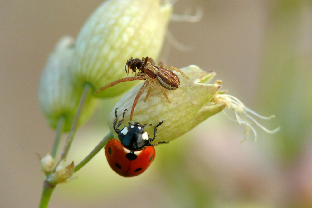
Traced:
MULTIPOLYGON (((197 66, 191 65, 180 69, 189 79, 175 72, 180 79, 180 86, 176 90, 165 90, 171 104, 157 86, 154 86, 146 102, 144 102, 147 90, 139 98, 134 109, 133 122, 157 125, 157 136, 153 143, 158 141, 171 141, 193 129, 208 117, 222 111, 226 107, 225 102, 211 102, 221 85, 206 84, 214 76, 215 72, 205 72, 197 66)), ((119 107, 118 120, 121 119, 124 109, 131 111, 136 94, 142 85, 134 87, 127 92, 110 112, 109 127, 113 130, 115 108, 119 107)), ((120 129, 130 122, 130 112, 126 113, 125 121, 120 129)), ((153 137, 153 127, 145 127, 150 137, 153 137)), ((115 138, 117 134, 114 134, 115 138)))

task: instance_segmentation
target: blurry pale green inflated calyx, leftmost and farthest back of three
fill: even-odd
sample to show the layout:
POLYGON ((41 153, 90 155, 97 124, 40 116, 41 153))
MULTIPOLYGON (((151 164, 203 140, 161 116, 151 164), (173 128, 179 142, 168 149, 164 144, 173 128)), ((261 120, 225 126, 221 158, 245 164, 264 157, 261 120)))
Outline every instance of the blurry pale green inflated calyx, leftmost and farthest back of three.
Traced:
MULTIPOLYGON (((62 37, 48 57, 41 76, 39 103, 50 126, 56 129, 59 119, 64 119, 63 131, 69 131, 75 117, 82 88, 73 87, 70 68, 75 48, 72 37, 62 37)), ((81 125, 92 115, 95 99, 89 96, 81 113, 81 125)))

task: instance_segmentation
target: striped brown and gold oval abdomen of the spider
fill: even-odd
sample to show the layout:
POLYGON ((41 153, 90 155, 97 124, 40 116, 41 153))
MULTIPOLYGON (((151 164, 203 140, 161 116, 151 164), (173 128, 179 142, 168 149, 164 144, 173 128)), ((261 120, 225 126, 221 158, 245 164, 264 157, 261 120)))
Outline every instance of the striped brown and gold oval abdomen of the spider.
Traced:
POLYGON ((157 80, 161 86, 168 90, 175 90, 180 86, 179 77, 168 69, 159 69, 157 72, 157 80))

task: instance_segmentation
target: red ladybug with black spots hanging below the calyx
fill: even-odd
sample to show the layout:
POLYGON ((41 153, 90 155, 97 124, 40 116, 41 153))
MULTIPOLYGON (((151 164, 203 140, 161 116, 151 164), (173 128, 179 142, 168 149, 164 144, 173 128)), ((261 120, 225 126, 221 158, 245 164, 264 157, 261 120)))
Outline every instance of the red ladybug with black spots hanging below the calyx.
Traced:
POLYGON ((137 176, 143 173, 154 161, 154 146, 158 143, 167 143, 166 141, 160 141, 156 144, 150 143, 156 138, 156 128, 164 121, 159 122, 154 127, 154 137, 149 138, 147 132, 144 132, 144 127, 152 124, 142 125, 129 122, 129 126, 120 130, 119 126, 124 122, 124 115, 127 109, 124 110, 122 120, 118 124, 117 109, 115 109, 116 119, 114 120, 113 128, 121 142, 117 139, 111 139, 105 146, 105 156, 110 167, 119 175, 124 177, 137 176))

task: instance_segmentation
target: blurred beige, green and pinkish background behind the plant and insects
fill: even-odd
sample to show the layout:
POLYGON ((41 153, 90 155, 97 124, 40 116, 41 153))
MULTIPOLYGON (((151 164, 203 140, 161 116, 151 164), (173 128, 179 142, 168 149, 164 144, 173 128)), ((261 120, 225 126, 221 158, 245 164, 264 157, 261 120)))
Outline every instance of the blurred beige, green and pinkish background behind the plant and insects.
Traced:
MULTIPOLYGON (((48 54, 63 35, 76 37, 102 0, 0 0, 0 207, 37 207, 43 173, 36 152, 51 151, 52 131, 37 89, 48 54)), ((305 0, 180 0, 174 13, 202 7, 200 22, 171 22, 189 52, 165 42, 169 66, 215 71, 222 89, 276 118, 256 128, 258 142, 219 113, 156 147, 144 174, 123 178, 100 151, 56 187, 49 207, 312 207, 312 4, 305 0)), ((120 97, 101 101, 77 131, 69 159, 80 161, 109 132, 120 97)), ((66 135, 63 136, 63 143, 66 135)), ((61 145, 62 145, 61 144, 61 145)))

